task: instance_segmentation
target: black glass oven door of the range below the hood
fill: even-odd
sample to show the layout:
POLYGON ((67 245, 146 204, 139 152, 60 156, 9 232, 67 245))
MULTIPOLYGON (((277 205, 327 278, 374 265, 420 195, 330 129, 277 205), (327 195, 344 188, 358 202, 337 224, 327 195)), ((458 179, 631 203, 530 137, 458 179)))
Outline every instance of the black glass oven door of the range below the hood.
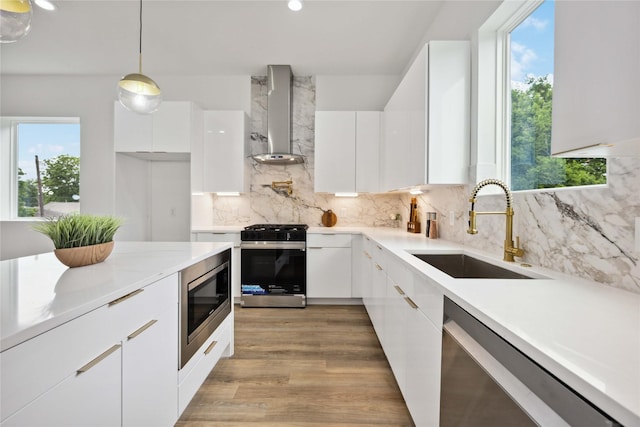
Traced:
POLYGON ((293 295, 306 293, 307 258, 304 243, 297 248, 265 245, 240 250, 243 294, 293 295))

